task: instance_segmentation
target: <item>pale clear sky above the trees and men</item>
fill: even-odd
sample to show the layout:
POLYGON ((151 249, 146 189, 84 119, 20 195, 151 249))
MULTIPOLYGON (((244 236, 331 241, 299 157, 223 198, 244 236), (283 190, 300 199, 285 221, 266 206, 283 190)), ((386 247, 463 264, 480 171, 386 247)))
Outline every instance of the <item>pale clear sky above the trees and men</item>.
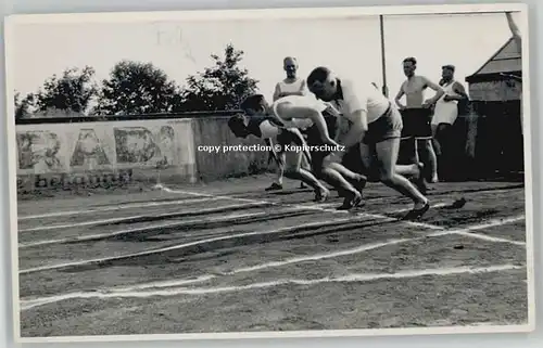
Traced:
MULTIPOLYGON (((519 17, 514 15, 519 21, 519 17)), ((520 27, 521 24, 518 23, 520 27)), ((393 98, 405 79, 402 61, 415 56, 417 73, 438 82, 441 66, 456 66, 464 82, 510 37, 505 14, 387 15, 387 85, 393 98)), ((244 51, 242 66, 269 99, 285 78, 282 59, 295 56, 299 76, 328 66, 340 76, 382 86, 378 16, 324 20, 177 21, 149 23, 17 24, 10 68, 16 91, 35 92, 68 67, 90 65, 97 80, 121 60, 151 62, 171 79, 185 79, 212 63, 226 44, 244 51)), ((465 82, 464 82, 465 83, 465 82)), ((467 87, 467 86, 466 86, 467 87)))

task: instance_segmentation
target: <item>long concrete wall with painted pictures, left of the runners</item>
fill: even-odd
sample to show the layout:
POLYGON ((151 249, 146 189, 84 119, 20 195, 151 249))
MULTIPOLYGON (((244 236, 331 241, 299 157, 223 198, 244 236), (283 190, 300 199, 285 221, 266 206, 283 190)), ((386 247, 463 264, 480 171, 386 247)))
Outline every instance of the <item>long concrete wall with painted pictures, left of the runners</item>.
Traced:
POLYGON ((267 170, 267 152, 198 151, 264 145, 252 136, 237 139, 227 123, 207 116, 17 125, 18 191, 212 181, 267 170))

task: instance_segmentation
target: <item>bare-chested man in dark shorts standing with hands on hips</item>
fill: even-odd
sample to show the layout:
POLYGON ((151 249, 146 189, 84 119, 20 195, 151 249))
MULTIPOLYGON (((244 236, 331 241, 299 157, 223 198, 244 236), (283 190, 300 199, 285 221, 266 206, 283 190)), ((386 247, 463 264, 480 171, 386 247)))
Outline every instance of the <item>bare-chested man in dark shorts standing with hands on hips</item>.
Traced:
POLYGON ((438 181, 438 159, 432 146, 431 107, 444 94, 442 88, 430 81, 425 76, 415 74, 417 60, 413 56, 403 61, 403 69, 407 79, 402 83, 400 91, 394 99, 402 112, 404 129, 402 131, 403 151, 411 153, 414 157, 412 163, 419 163, 419 151, 422 155, 422 163, 428 169, 428 181, 438 181), (425 100, 425 90, 430 88, 435 91, 435 95, 425 100), (401 100, 405 95, 406 104, 401 100))

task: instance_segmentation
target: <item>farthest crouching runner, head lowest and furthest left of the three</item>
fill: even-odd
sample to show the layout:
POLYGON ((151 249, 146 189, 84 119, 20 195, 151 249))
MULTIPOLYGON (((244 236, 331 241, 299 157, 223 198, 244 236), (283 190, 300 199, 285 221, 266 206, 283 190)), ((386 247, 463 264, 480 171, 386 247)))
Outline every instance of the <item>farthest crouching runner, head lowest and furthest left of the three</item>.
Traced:
MULTIPOLYGON (((243 104, 241 105, 243 109, 243 104)), ((278 155, 277 150, 273 145, 273 139, 281 147, 286 145, 296 145, 300 149, 306 146, 306 143, 298 129, 279 128, 270 121, 267 116, 249 116, 236 115, 228 120, 228 127, 237 138, 247 138, 254 136, 264 139, 266 145, 272 150, 272 155, 279 167, 285 168, 285 177, 293 180, 301 180, 315 190, 315 201, 325 202, 330 195, 326 189, 310 171, 310 168, 302 168, 302 157, 310 156, 307 152, 303 151, 287 151, 285 162, 282 163, 281 156, 278 155)))

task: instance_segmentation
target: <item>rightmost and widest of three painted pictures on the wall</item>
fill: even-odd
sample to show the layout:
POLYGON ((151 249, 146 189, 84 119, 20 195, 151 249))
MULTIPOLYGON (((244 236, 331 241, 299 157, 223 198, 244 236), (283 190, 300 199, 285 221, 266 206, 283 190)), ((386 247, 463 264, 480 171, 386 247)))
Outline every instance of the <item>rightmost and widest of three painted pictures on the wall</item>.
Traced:
POLYGON ((157 167, 167 167, 174 160, 174 129, 162 126, 153 134, 143 127, 115 128, 118 164, 144 164, 156 160, 157 167))

